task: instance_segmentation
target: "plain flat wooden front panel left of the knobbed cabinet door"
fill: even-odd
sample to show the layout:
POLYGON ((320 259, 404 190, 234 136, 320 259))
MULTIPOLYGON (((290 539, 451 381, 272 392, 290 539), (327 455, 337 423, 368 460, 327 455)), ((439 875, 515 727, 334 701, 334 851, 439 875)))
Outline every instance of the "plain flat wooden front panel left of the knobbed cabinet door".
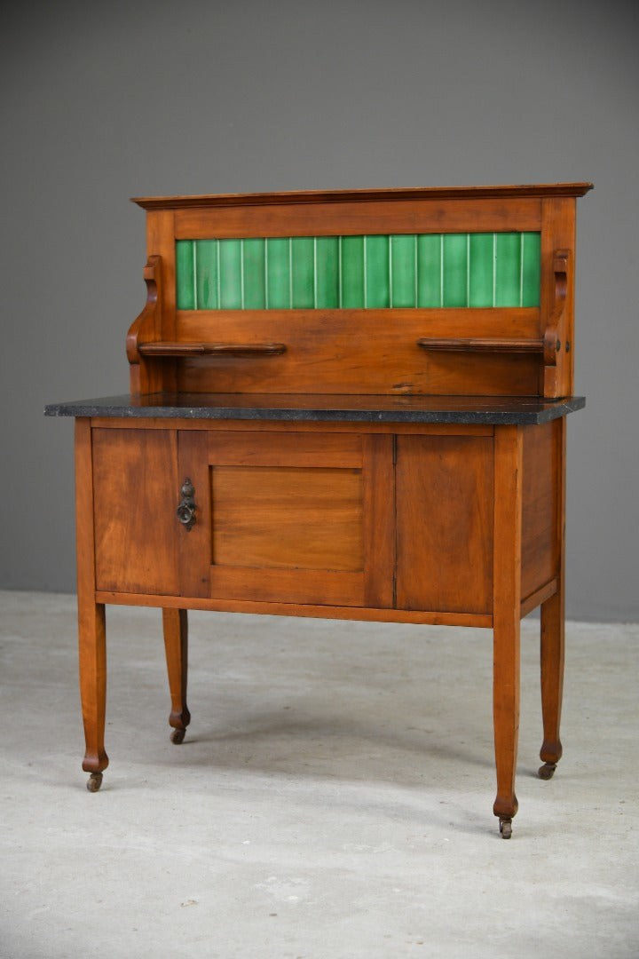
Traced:
POLYGON ((93 431, 97 589, 179 593, 174 431, 93 431))

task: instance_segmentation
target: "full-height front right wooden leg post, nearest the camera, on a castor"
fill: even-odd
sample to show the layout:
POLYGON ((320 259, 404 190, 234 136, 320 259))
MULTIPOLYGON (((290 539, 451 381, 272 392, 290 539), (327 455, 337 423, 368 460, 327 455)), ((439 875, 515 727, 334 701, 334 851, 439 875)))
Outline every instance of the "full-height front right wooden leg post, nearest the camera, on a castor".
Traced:
POLYGON ((517 811, 514 777, 519 734, 522 436, 495 428, 492 583, 492 704, 497 796, 492 811, 505 839, 517 811))

